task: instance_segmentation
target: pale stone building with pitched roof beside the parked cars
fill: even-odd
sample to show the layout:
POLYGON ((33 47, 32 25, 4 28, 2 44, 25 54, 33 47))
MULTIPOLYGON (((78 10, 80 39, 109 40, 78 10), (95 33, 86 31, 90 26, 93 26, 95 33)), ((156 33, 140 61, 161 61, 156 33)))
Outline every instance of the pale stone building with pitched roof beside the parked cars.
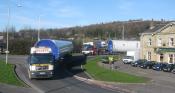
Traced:
POLYGON ((175 22, 151 27, 140 37, 140 58, 175 63, 175 22))

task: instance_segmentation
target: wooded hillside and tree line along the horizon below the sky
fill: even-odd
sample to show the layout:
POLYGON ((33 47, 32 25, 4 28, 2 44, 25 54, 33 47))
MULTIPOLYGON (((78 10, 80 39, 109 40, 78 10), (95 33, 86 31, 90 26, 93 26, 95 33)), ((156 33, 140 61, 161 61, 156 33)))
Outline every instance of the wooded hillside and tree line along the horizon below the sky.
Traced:
MULTIPOLYGON (((122 39, 123 31, 125 40, 139 40, 140 33, 149 30, 150 24, 161 24, 165 21, 129 20, 114 21, 109 23, 76 26, 70 28, 40 29, 41 39, 69 39, 74 44, 74 52, 81 52, 83 42, 92 41, 94 38, 101 40, 122 39)), ((166 21, 167 22, 167 21, 166 21)), ((37 41, 37 29, 24 28, 16 31, 14 27, 9 31, 9 51, 11 54, 29 54, 30 47, 37 41)), ((6 31, 1 32, 6 38, 6 31)), ((6 40, 4 39, 4 43, 6 40)))

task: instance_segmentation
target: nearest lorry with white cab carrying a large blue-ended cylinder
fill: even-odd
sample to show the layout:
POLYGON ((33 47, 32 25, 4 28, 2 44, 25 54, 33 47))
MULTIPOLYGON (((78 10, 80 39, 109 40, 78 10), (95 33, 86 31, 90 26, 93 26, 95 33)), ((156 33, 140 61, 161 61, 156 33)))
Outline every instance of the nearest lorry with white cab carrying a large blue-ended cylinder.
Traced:
POLYGON ((53 77, 55 65, 72 50, 70 41, 43 39, 36 42, 28 57, 29 78, 53 77))

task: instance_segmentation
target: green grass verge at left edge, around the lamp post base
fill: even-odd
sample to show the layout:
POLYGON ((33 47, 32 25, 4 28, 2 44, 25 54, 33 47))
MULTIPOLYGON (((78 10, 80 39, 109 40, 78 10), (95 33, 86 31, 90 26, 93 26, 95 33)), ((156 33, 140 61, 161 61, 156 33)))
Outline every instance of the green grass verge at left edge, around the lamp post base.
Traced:
POLYGON ((6 64, 0 60, 0 83, 12 84, 24 87, 22 81, 17 79, 14 72, 14 65, 6 64))

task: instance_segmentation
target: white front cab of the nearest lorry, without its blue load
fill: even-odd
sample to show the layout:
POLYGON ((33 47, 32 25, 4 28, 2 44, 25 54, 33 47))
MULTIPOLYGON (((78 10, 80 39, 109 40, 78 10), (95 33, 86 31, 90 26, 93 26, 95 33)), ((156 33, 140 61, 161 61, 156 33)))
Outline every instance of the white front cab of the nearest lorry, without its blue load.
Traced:
POLYGON ((51 48, 32 47, 28 57, 28 75, 33 78, 50 78, 53 76, 54 58, 51 48))

